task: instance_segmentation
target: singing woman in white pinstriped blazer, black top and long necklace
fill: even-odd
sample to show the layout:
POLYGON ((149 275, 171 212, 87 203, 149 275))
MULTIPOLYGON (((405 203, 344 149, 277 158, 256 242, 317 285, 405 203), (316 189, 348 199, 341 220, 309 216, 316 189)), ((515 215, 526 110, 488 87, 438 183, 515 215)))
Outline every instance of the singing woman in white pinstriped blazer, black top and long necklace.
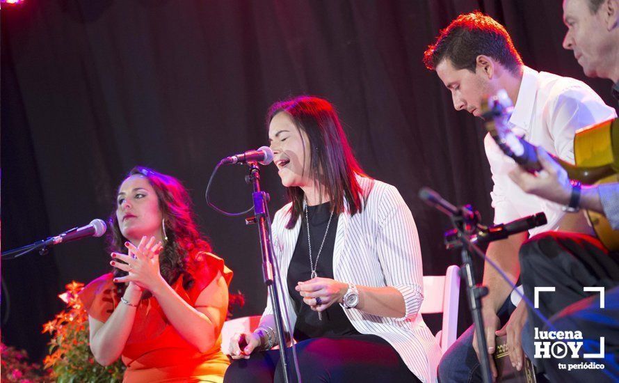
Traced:
MULTIPOLYGON (((421 251, 403 198, 364 175, 329 102, 278 102, 267 122, 290 200, 273 246, 302 379, 435 382, 440 349, 419 313, 421 251)), ((259 327, 230 340, 225 382, 282 380, 274 328, 268 300, 259 327)))

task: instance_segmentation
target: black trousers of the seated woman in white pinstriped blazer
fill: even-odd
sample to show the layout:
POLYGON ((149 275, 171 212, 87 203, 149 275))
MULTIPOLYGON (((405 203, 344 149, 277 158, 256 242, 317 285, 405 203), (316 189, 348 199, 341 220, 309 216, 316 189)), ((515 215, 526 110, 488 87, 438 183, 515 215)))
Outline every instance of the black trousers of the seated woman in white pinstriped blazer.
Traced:
MULTIPOLYGON (((312 338, 297 343, 296 352, 303 383, 419 382, 396 350, 376 335, 312 338)), ((279 362, 279 350, 255 352, 250 359, 233 361, 224 382, 283 382, 279 362)), ((291 360, 288 364, 294 371, 291 360)))

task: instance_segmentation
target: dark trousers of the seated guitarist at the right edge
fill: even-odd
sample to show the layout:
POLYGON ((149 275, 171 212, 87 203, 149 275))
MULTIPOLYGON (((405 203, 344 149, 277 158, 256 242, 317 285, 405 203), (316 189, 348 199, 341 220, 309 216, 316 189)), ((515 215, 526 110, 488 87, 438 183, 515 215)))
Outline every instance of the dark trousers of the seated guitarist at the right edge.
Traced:
MULTIPOLYGON (((572 359, 570 353, 561 359, 536 358, 538 368, 552 382, 619 381, 619 254, 609 253, 588 235, 542 233, 520 249, 520 279, 531 302, 536 286, 554 287, 555 292, 540 292, 540 312, 549 318, 552 329, 581 331, 584 337, 579 358, 572 359), (584 291, 585 286, 604 288, 604 308, 597 292, 584 291), (602 336, 605 358, 583 359, 584 353, 600 352, 602 336), (590 361, 604 364, 604 369, 584 368, 590 361)), ((531 334, 536 327, 549 330, 533 313, 529 313, 529 325, 531 334)))

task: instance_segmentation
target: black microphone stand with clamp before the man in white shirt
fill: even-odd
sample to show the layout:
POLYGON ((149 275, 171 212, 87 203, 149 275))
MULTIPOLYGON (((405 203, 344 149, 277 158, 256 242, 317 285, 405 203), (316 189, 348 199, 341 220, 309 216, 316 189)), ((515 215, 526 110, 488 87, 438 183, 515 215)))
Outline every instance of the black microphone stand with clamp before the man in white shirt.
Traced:
MULTIPOLYGON (((475 332, 477 333, 481 375, 484 383, 490 383, 492 382, 490 356, 488 354, 488 345, 485 341, 485 327, 481 315, 481 298, 488 295, 488 288, 476 283, 473 273, 473 260, 469 251, 469 244, 474 243, 475 230, 479 225, 480 215, 479 212, 472 210, 470 205, 465 205, 458 209, 458 214, 449 214, 449 217, 458 233, 458 241, 455 243, 446 243, 446 247, 447 249, 460 249, 460 256, 462 258, 460 276, 462 276, 467 283, 467 300, 469 302, 469 308, 471 309, 475 332)), ((444 235, 446 239, 450 234, 453 235, 453 230, 445 232, 444 235)))

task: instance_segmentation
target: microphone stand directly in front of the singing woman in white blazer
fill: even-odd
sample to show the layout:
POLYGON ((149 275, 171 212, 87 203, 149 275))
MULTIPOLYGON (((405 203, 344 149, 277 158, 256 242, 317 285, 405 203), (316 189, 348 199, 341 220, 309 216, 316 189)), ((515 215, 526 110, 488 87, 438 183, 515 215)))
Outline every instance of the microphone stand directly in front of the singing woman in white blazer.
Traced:
POLYGON ((250 168, 249 175, 246 176, 246 182, 253 185, 252 200, 254 203, 254 216, 246 219, 246 224, 258 224, 258 235, 260 239, 260 250, 262 251, 262 278, 268 290, 268 295, 271 297, 273 304, 273 317, 275 318, 275 327, 278 330, 278 340, 280 342, 280 360, 284 370, 284 382, 290 382, 290 370, 286 359, 286 346, 284 338, 284 326, 282 320, 282 310, 280 307, 280 299, 278 286, 274 270, 273 262, 273 244, 271 243, 271 224, 268 215, 268 193, 263 192, 260 188, 260 168, 257 162, 248 162, 250 168))

